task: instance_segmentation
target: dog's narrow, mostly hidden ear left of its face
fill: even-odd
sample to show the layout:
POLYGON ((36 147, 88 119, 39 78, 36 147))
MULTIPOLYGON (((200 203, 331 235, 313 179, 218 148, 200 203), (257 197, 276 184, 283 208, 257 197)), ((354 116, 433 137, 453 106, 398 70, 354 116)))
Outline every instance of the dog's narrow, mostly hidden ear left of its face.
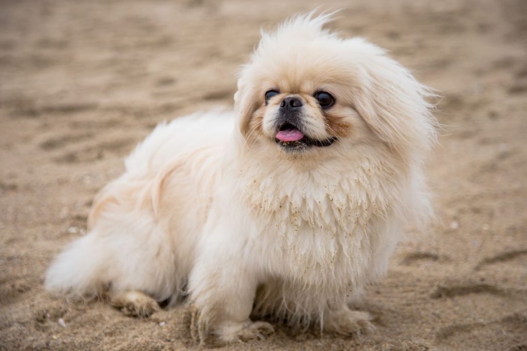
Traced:
POLYGON ((234 94, 236 125, 243 136, 247 134, 251 115, 257 108, 255 88, 244 71, 246 70, 243 70, 238 78, 238 91, 234 94))

